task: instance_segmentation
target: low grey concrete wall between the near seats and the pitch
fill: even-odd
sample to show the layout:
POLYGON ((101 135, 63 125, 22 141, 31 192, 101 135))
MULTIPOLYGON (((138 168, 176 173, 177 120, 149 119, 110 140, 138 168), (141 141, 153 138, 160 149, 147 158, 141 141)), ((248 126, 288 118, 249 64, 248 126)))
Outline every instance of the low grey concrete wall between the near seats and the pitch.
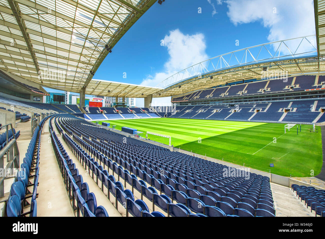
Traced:
POLYGON ((285 176, 281 176, 281 175, 274 174, 274 173, 269 173, 269 172, 265 172, 265 171, 261 171, 261 170, 257 170, 257 169, 252 169, 252 168, 245 167, 245 166, 242 166, 242 165, 239 165, 239 164, 226 162, 226 161, 223 161, 223 160, 220 160, 220 159, 215 159, 215 158, 212 158, 212 157, 207 157, 207 156, 204 156, 204 155, 195 154, 195 153, 183 150, 183 149, 178 149, 178 148, 175 148, 175 147, 171 147, 171 146, 168 146, 168 145, 165 145, 165 144, 162 144, 162 143, 159 143, 159 142, 155 142, 155 141, 152 141, 152 140, 146 140, 144 138, 137 138, 137 137, 134 137, 133 135, 130 135, 128 133, 124 133, 124 132, 122 132, 120 130, 113 130, 113 129, 109 128, 109 127, 98 125, 98 124, 93 123, 93 122, 91 122, 91 123, 94 124, 95 126, 102 127, 102 128, 107 129, 109 131, 116 132, 116 133, 119 133, 119 134, 123 134, 126 137, 131 137, 131 138, 134 138, 134 139, 137 139, 137 140, 141 140, 143 142, 147 142, 147 143, 150 143, 150 144, 153 144, 153 145, 158 145, 158 146, 161 146, 163 148, 167 148, 170 151, 180 152, 180 153, 184 153, 184 154, 187 154, 187 155, 190 155, 190 156, 199 157, 199 158, 202 158, 202 159, 209 160, 211 162, 223 164, 223 165, 226 165, 226 166, 229 166, 229 167, 232 167, 232 168, 236 168, 236 169, 246 168, 251 173, 256 173, 256 174, 260 174, 262 176, 267 176, 267 177, 270 178, 270 182, 273 182, 273 183, 276 183, 276 184, 279 184, 279 185, 282 185, 282 186, 291 187, 292 184, 298 184, 298 185, 305 185, 307 187, 313 186, 316 189, 325 190, 324 188, 318 187, 316 185, 305 183, 305 182, 302 182, 302 181, 299 181, 299 180, 296 180, 296 179, 292 179, 290 177, 285 177, 285 176))

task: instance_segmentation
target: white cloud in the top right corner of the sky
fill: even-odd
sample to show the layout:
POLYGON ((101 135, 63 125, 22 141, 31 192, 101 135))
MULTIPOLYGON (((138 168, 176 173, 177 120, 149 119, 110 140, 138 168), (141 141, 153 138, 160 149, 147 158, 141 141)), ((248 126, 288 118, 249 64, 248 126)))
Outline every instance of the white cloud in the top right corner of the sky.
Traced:
MULTIPOLYGON (((235 25, 261 21, 267 39, 279 41, 315 34, 313 0, 227 0, 227 15, 235 25)), ((315 43, 316 44, 316 43, 315 43)))

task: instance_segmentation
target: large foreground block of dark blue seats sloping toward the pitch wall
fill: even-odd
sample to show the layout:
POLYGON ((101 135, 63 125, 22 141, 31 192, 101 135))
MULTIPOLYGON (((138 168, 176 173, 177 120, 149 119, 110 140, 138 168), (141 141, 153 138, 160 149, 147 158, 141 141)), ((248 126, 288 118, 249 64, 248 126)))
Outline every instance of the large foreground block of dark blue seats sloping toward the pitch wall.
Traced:
POLYGON ((247 177, 224 176, 228 170, 224 165, 130 137, 123 144, 123 135, 78 118, 62 116, 59 122, 66 131, 66 144, 99 187, 108 189, 108 197, 125 206, 127 214, 150 214, 143 200, 134 201, 136 190, 141 199, 152 202, 153 211, 158 207, 168 216, 275 216, 267 177, 249 172, 240 172, 247 177), (127 184, 133 192, 124 190, 127 184))

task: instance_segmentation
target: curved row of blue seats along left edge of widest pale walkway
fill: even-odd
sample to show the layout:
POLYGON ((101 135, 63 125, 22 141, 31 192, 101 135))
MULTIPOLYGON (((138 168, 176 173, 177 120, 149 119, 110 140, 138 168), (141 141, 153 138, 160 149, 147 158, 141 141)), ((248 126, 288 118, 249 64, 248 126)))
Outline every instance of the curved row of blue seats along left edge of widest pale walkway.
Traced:
POLYGON ((27 152, 17 173, 17 182, 11 185, 10 197, 7 202, 8 217, 22 217, 29 215, 37 216, 38 197, 37 186, 39 177, 39 159, 40 159, 40 139, 44 122, 47 118, 42 119, 35 128, 27 152), (30 188, 32 187, 32 190, 30 188), (27 199, 31 199, 30 202, 27 199), (30 211, 23 212, 30 207, 30 211))

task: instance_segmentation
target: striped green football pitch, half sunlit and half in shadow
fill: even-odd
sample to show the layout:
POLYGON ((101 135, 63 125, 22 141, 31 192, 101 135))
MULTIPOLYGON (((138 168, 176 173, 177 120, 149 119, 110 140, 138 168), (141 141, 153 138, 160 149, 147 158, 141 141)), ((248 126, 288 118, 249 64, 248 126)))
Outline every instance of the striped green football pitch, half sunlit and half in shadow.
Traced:
MULTIPOLYGON (((174 147, 282 176, 310 177, 322 167, 319 126, 318 132, 310 132, 311 125, 301 125, 300 132, 298 125, 297 135, 297 126, 284 133, 285 124, 281 123, 172 118, 100 122, 116 125, 118 130, 123 126, 137 129, 143 132, 142 137, 147 131, 170 135, 174 147)), ((169 143, 161 136, 149 134, 148 138, 169 143)))

